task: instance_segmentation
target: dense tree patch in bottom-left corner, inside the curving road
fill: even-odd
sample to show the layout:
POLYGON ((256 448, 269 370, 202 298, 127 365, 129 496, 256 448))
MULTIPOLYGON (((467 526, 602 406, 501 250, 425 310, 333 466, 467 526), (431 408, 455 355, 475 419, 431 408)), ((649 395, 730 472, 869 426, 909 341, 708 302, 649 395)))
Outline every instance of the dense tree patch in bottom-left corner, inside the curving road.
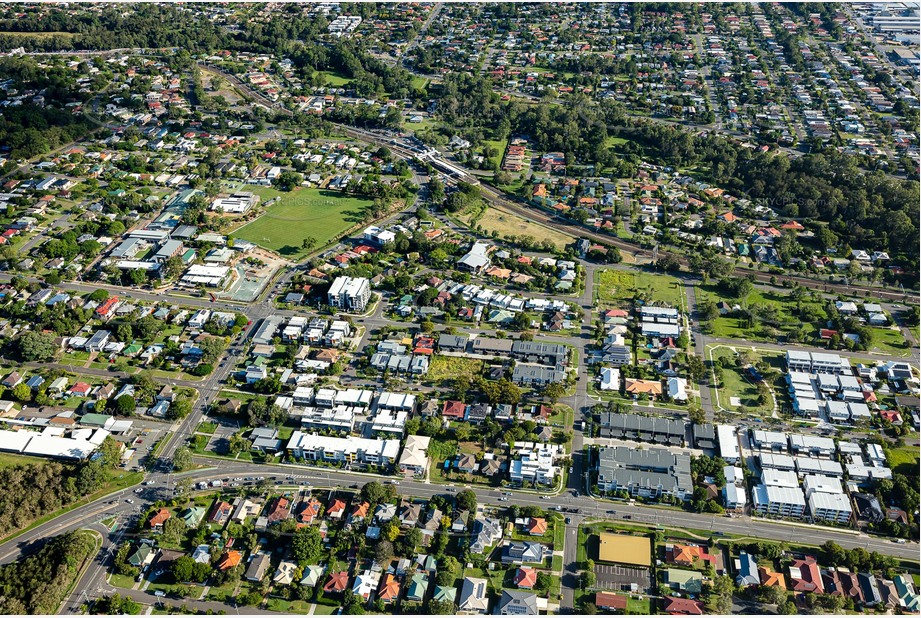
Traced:
POLYGON ((67 532, 52 538, 38 553, 0 567, 0 614, 57 613, 92 551, 88 534, 67 532))

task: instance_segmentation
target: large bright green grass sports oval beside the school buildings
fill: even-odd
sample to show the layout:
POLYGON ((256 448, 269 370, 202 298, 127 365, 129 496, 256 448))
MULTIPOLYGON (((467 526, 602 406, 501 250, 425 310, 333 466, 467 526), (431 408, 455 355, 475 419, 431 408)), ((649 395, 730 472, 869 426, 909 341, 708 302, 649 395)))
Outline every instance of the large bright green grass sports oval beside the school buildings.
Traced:
POLYGON ((265 202, 281 199, 267 207, 255 221, 236 229, 233 236, 256 243, 286 258, 300 258, 301 243, 308 236, 316 239, 311 251, 329 244, 349 228, 361 223, 362 211, 370 200, 326 189, 298 188, 282 193, 269 187, 253 190, 265 202))

